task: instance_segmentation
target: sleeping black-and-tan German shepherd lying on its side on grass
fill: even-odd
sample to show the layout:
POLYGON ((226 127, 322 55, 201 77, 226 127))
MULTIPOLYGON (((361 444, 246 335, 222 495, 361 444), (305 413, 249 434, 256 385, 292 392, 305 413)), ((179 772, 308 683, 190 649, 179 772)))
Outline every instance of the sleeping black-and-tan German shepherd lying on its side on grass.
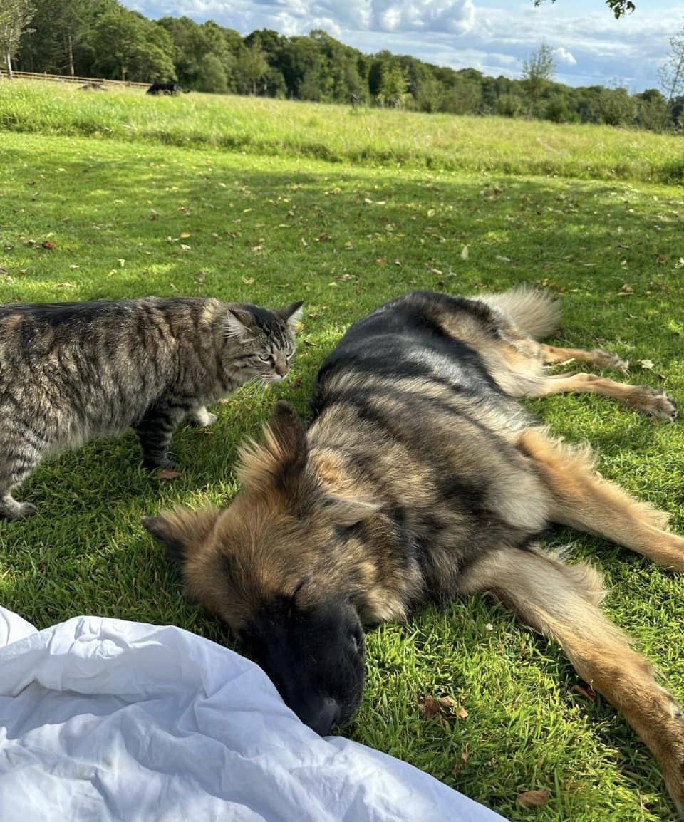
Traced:
POLYGON ((549 524, 570 525, 682 571, 684 538, 514 398, 592 392, 668 421, 677 408, 645 386, 548 376, 547 363, 569 358, 626 367, 605 351, 535 341, 557 322, 557 302, 526 289, 387 302, 321 367, 308 430, 279 403, 261 443, 243 446, 243 489, 229 507, 144 523, 178 557, 189 595, 321 734, 361 700, 363 626, 494 593, 622 711, 684 813, 682 711, 599 610, 598 572, 538 542, 549 524))

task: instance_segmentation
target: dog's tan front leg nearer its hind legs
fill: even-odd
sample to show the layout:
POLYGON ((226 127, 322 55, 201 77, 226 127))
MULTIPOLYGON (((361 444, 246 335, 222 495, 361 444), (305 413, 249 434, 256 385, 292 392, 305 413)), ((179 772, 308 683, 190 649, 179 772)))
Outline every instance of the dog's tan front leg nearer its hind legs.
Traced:
POLYGON ((660 566, 684 571, 684 538, 663 530, 668 515, 599 477, 588 450, 553 440, 538 428, 522 432, 516 445, 534 460, 551 491, 552 522, 597 533, 660 566))

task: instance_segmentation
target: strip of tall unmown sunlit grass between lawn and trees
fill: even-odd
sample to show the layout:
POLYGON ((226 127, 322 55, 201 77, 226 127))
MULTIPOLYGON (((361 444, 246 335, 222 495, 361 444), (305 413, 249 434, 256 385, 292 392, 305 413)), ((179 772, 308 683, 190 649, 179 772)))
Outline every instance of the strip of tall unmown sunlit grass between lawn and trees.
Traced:
POLYGON ((611 127, 0 82, 0 130, 92 136, 337 163, 682 182, 682 139, 611 127))

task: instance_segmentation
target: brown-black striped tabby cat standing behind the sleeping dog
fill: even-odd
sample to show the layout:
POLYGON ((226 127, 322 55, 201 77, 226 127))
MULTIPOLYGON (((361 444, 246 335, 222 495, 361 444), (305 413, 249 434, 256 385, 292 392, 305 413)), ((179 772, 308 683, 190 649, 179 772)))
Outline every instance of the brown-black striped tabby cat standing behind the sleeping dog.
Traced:
POLYGON ((302 302, 277 311, 215 299, 0 306, 0 515, 35 513, 12 489, 45 457, 133 427, 147 469, 206 404, 289 370, 302 302))

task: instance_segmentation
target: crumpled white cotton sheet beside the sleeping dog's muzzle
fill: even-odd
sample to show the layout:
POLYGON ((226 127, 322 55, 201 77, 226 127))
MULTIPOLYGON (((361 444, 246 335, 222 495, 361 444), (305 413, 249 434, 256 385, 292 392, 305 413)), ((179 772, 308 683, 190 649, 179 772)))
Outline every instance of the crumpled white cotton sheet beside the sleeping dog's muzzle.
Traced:
POLYGON ((0 608, 2 822, 501 822, 299 722, 229 649, 173 627, 0 608))

